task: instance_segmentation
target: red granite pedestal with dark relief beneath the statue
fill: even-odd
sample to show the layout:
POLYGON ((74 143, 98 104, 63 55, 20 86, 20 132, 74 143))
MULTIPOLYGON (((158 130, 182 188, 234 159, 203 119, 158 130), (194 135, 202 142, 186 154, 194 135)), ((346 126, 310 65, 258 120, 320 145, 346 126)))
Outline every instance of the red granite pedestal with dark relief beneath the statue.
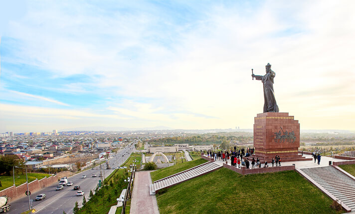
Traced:
POLYGON ((300 147, 300 124, 294 116, 283 112, 265 112, 254 118, 255 155, 264 163, 280 156, 281 162, 306 161, 298 154, 300 147))

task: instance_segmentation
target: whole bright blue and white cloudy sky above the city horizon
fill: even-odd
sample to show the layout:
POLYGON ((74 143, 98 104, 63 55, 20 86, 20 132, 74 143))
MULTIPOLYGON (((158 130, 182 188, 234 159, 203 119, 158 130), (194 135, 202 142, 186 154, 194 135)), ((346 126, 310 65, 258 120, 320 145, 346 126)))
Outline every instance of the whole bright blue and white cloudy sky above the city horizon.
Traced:
POLYGON ((0 1, 0 133, 253 127, 275 71, 301 129, 355 130, 354 0, 0 1), (104 128, 105 127, 105 128, 104 128))

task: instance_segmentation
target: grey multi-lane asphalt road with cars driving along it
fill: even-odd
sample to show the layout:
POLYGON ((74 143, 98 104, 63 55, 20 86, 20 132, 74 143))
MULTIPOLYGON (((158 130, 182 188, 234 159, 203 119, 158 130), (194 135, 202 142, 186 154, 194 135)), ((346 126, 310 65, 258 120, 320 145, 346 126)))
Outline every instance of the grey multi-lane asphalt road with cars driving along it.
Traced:
MULTIPOLYGON (((133 152, 134 145, 129 145, 128 147, 122 149, 117 154, 110 154, 109 163, 111 167, 122 165, 133 152), (115 164, 115 165, 113 165, 115 164)), ((114 170, 105 170, 106 164, 102 165, 104 169, 101 172, 104 178, 109 176, 114 170)), ((99 168, 99 167, 98 167, 99 168)), ((95 170, 86 170, 84 172, 78 173, 71 177, 68 177, 68 182, 73 182, 73 186, 64 186, 63 190, 56 191, 55 188, 58 183, 54 183, 48 187, 43 188, 36 193, 31 193, 30 199, 33 199, 32 207, 36 210, 36 214, 62 214, 63 211, 67 214, 73 213, 73 208, 75 202, 79 203, 79 207, 82 207, 82 196, 76 196, 76 190, 74 191, 74 186, 80 186, 80 190, 85 192, 86 200, 89 197, 90 190, 94 192, 97 184, 99 183, 99 177, 92 177, 92 174, 100 174, 100 168, 95 170), (82 175, 86 175, 87 178, 81 178, 82 175), (43 201, 34 201, 34 198, 39 194, 45 194, 46 199, 43 201)), ((19 214, 28 210, 28 197, 22 197, 16 201, 10 203, 11 209, 9 214, 19 214)))

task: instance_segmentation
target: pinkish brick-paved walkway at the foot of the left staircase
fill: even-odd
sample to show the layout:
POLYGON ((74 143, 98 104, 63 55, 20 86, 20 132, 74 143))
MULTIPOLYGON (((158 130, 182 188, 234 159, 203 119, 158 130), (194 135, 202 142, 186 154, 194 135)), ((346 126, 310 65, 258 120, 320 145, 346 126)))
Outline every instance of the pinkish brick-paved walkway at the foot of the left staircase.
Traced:
POLYGON ((151 171, 136 172, 133 186, 131 214, 159 214, 156 196, 149 195, 151 171))

